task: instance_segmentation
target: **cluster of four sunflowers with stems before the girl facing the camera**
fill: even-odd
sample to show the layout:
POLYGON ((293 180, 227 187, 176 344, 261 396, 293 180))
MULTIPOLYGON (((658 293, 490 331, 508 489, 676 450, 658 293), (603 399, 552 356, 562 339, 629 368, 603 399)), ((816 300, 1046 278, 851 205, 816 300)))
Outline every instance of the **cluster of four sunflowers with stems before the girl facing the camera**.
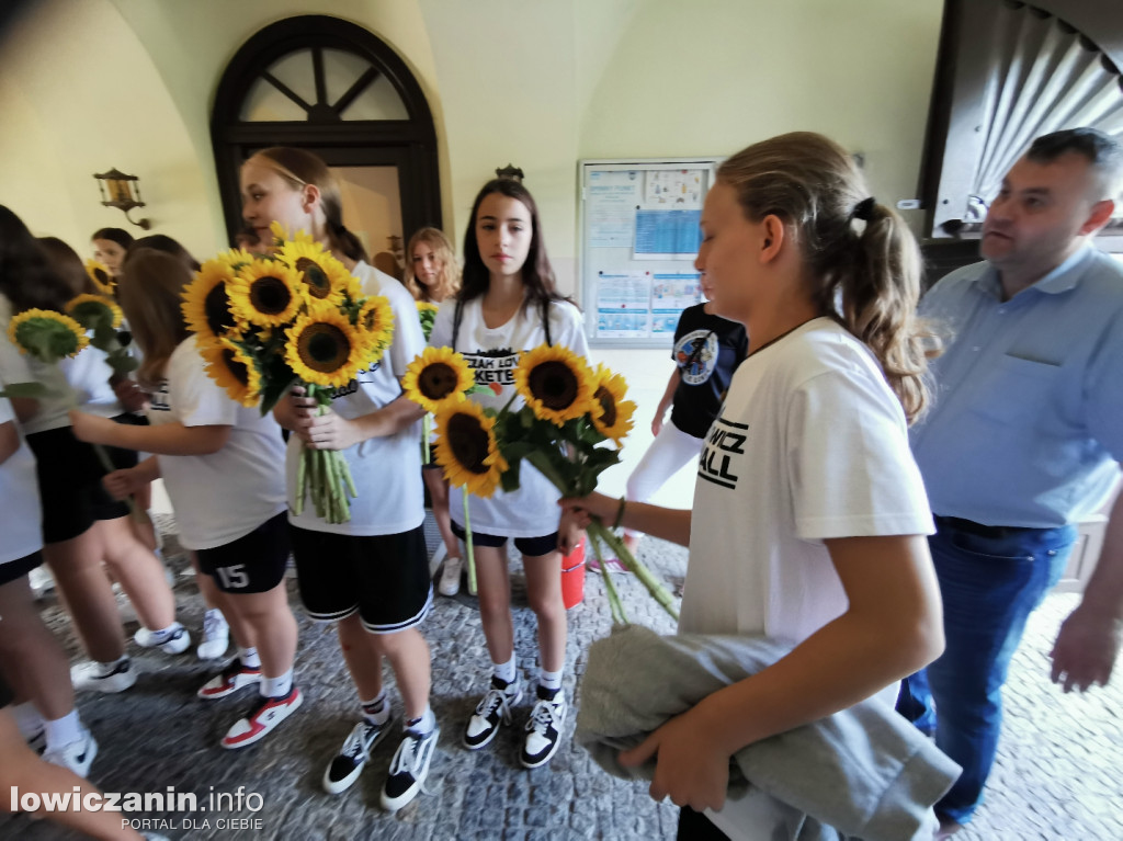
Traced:
MULTIPOLYGON (((619 374, 602 365, 590 368, 566 347, 540 345, 522 354, 514 371, 514 396, 524 401, 520 409, 511 409, 514 396, 497 412, 466 401, 465 384, 473 382, 472 371, 459 354, 429 348, 414 359, 402 384, 408 396, 436 413, 440 442, 437 464, 451 485, 484 497, 497 487, 515 491, 519 468, 526 460, 564 496, 586 496, 596 490, 600 475, 619 464, 636 410, 634 403, 624 400, 627 383, 619 374), (614 446, 601 446, 606 441, 614 446)), ((610 547, 677 618, 670 593, 613 529, 594 519, 588 536, 597 558, 602 543, 610 547)), ((613 619, 627 621, 608 565, 600 566, 613 619)))

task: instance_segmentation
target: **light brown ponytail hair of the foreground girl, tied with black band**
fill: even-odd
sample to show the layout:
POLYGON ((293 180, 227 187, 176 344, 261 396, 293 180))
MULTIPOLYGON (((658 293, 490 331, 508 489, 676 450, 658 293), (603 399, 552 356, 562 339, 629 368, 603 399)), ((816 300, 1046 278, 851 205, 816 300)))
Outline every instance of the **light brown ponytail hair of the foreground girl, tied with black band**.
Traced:
POLYGON ((874 353, 910 422, 928 405, 928 359, 939 344, 916 316, 920 248, 904 221, 874 201, 852 156, 795 131, 754 144, 718 168, 745 216, 789 228, 818 311, 874 353))

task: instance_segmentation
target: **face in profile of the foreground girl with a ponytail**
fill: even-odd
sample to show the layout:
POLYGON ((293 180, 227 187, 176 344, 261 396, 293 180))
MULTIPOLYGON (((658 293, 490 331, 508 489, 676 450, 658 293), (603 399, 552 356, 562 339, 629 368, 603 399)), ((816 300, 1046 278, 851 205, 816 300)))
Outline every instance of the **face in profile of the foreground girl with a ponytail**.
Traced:
POLYGON ((763 230, 745 217, 733 188, 720 181, 713 185, 702 208, 702 245, 694 267, 703 273, 702 290, 719 316, 747 321, 763 230))

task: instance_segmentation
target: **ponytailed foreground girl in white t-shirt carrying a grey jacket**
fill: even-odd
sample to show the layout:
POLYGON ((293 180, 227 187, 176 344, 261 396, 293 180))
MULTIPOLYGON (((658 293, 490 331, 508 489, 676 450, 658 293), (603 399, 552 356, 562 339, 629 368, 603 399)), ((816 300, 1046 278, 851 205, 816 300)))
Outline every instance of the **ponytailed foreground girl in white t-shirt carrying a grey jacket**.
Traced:
POLYGON ((621 755, 657 756, 651 796, 684 807, 681 838, 770 839, 786 807, 727 801, 730 757, 870 696, 892 706, 896 683, 943 646, 906 436, 925 402, 920 255, 852 156, 809 132, 725 161, 702 232, 695 265, 751 346, 706 436, 693 509, 595 494, 566 505, 609 521, 622 510, 626 525, 690 545, 681 631, 795 645, 621 755))

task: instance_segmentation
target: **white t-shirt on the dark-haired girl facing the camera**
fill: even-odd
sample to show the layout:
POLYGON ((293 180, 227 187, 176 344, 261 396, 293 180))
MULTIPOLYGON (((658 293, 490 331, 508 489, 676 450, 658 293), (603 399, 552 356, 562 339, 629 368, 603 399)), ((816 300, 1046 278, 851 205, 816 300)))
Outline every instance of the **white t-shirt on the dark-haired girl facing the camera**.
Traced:
MULTIPOLYGON (((437 313, 429 344, 433 347, 451 347, 453 319, 456 301, 446 300, 437 313)), ((582 323, 581 312, 567 301, 554 301, 549 309, 550 341, 563 345, 578 356, 588 355, 588 340, 582 323)), ((499 383, 499 394, 489 390, 473 394, 469 400, 491 409, 506 405, 514 390, 514 367, 519 354, 531 350, 546 341, 541 309, 537 305, 521 309, 505 324, 489 328, 483 319, 483 299, 476 298, 464 304, 460 329, 456 347, 475 371, 476 383, 490 385, 499 383)), ((515 397, 513 410, 523 405, 522 397, 515 397)), ((438 442, 439 446, 439 442, 438 442)), ((496 490, 490 499, 472 496, 469 515, 472 528, 484 534, 511 538, 537 538, 553 534, 558 529, 560 494, 553 483, 529 463, 523 460, 519 468, 519 490, 503 493, 496 490)), ((464 494, 458 487, 449 488, 448 510, 458 525, 464 525, 464 494)))

